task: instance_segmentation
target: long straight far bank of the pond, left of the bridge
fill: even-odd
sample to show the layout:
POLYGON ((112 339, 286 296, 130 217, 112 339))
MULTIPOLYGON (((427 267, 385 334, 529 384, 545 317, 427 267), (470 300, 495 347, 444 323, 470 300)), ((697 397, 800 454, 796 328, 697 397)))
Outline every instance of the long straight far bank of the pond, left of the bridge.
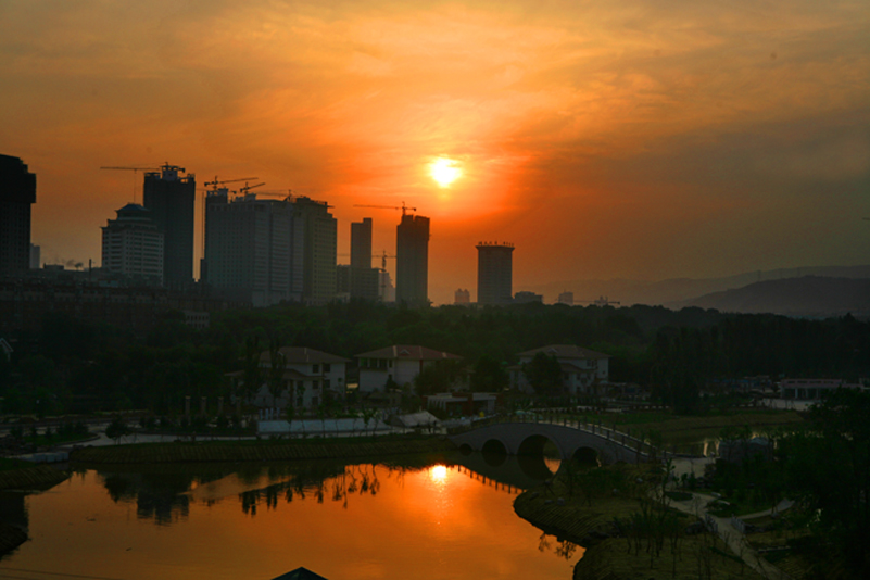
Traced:
POLYGON ((157 464, 279 462, 301 459, 349 459, 355 457, 404 455, 453 451, 446 439, 419 436, 383 436, 313 440, 203 441, 139 443, 102 447, 81 447, 70 459, 81 464, 157 464))

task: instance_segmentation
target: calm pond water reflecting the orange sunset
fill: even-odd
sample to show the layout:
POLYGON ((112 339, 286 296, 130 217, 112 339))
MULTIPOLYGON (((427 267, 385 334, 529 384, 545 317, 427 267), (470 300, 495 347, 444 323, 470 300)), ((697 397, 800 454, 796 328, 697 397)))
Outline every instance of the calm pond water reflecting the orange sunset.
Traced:
POLYGON ((0 578, 569 579, 583 549, 514 513, 528 469, 467 459, 79 471, 17 500, 0 578))

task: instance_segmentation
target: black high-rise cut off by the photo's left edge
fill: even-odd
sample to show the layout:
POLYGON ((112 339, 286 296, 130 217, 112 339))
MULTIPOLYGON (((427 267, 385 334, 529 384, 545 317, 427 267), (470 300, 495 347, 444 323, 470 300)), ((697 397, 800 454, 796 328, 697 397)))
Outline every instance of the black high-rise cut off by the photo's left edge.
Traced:
POLYGON ((30 205, 36 175, 18 157, 0 155, 0 277, 30 267, 30 205))

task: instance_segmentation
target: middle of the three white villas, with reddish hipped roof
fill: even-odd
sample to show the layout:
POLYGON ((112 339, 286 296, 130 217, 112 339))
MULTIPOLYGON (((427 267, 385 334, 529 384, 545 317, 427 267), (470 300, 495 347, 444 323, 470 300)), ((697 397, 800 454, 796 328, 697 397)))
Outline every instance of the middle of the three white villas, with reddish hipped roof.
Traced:
POLYGON ((420 370, 439 361, 459 361, 462 356, 426 346, 394 344, 386 349, 357 354, 360 392, 382 392, 392 379, 400 387, 413 384, 420 370))

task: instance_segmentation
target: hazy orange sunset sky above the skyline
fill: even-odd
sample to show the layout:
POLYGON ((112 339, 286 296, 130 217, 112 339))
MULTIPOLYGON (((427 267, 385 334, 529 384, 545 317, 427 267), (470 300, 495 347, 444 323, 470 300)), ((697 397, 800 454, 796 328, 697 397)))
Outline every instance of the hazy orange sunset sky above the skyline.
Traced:
POLYGON ((164 162, 328 201, 340 254, 416 207, 437 303, 479 241, 515 291, 870 263, 866 0, 0 0, 0 119, 48 263, 164 162))

